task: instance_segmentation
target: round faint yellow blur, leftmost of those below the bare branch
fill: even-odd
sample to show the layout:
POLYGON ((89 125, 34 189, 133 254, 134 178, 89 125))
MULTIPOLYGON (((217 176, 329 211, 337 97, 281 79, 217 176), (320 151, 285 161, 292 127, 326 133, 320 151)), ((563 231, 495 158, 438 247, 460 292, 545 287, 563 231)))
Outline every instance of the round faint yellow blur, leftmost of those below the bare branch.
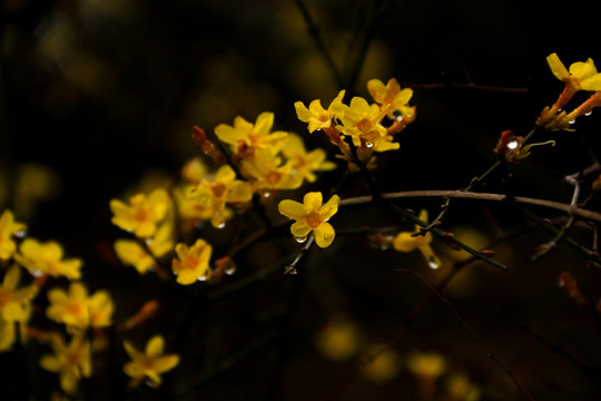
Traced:
POLYGON ((333 320, 315 335, 317 350, 333 361, 346 361, 359 349, 361 333, 346 320, 333 320))

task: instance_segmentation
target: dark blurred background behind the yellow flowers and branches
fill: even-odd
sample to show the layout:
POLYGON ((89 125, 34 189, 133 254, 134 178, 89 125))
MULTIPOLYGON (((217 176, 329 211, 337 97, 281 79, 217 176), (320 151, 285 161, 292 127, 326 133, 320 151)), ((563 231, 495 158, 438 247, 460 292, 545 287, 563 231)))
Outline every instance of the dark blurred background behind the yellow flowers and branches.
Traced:
MULTIPOLYGON (((381 189, 456 189, 494 163, 492 149, 502 130, 525 136, 542 108, 554 102, 562 85, 549 70, 549 53, 556 52, 565 65, 589 57, 601 62, 593 12, 516 0, 305 0, 300 7, 294 0, 0 4, 0 206, 27 222, 30 235, 59 239, 81 256, 86 282, 109 288, 117 304, 121 302, 118 316, 157 293, 171 294, 154 323, 164 332, 174 329, 168 315, 179 311, 180 303, 206 294, 198 288, 180 294, 156 277, 140 278, 119 266, 107 251, 119 236, 108 203, 145 183, 177 180, 184 163, 198 155, 190 139, 194 125, 211 134, 236 116, 254 121, 259 113, 273 111, 275 129, 303 134, 309 148, 322 146, 333 155, 325 137, 309 136, 297 120, 294 102, 322 99, 327 105, 343 88, 368 98, 368 79, 395 77, 414 88, 411 104, 417 106, 417 119, 401 135, 401 149, 378 159, 374 174, 381 189), (303 6, 337 76, 307 29, 303 6), (131 285, 139 294, 131 293, 131 285)), ((554 139, 558 145, 538 148, 514 167, 514 192, 569 202, 571 188, 562 177, 591 165, 599 127, 601 119, 593 113, 579 119, 578 133, 541 136, 540 141, 554 139)), ((329 190, 343 168, 324 173, 313 188, 329 190)), ((366 193, 363 180, 352 177, 341 196, 366 193)), ((402 204, 434 215, 441 203, 402 204)), ((589 207, 595 206, 593 199, 589 207)), ((541 214, 555 217, 549 211, 541 214)), ((370 208, 341 211, 335 217, 343 232, 391 224, 413 231, 370 208)), ((504 205, 457 203, 445 229, 485 246, 523 224, 523 216, 504 205)), ((599 316, 579 309, 559 287, 558 277, 570 271, 587 283, 591 299, 599 299, 599 270, 566 246, 530 262, 550 236, 526 228, 494 248, 510 266, 508 273, 470 264, 445 294, 535 399, 595 400, 599 316)), ((227 233, 209 229, 204 235, 214 235, 217 248, 227 250, 227 233)), ((592 246, 589 226, 577 226, 574 235, 592 246)), ((442 244, 434 246, 444 268, 452 268, 457 256, 442 244)), ((227 284, 276 263, 274 255, 293 257, 297 247, 284 241, 257 246, 236 261, 238 273, 227 284)), ((199 303, 196 323, 174 345, 194 360, 174 371, 158 399, 420 400, 425 397, 420 393, 423 374, 407 362, 414 353, 444 358, 445 373, 440 374, 451 380, 456 371, 471 378, 480 399, 525 399, 444 303, 434 300, 406 324, 431 293, 413 275, 392 268, 414 268, 434 283, 444 268, 432 272, 418 254, 375 250, 357 235, 339 235, 327 251, 312 250, 304 263, 298 276, 277 270, 244 290, 199 303), (332 341, 355 344, 356 352, 332 356, 318 345, 327 340, 316 340, 324 333, 338 333, 332 341), (378 344, 394 345, 381 368, 390 378, 361 374, 361 365, 368 364, 357 364, 361 352, 378 344)), ((2 358, 8 365, 10 355, 2 358)), ((29 374, 40 383, 32 395, 43 399, 51 378, 29 374)), ((10 388, 11 380, 17 379, 4 379, 0 388, 10 388)), ((444 399, 442 379, 428 385, 435 389, 433 399, 444 399)), ((108 389, 110 394, 117 391, 108 389)), ((157 395, 140 390, 126 397, 157 395)))

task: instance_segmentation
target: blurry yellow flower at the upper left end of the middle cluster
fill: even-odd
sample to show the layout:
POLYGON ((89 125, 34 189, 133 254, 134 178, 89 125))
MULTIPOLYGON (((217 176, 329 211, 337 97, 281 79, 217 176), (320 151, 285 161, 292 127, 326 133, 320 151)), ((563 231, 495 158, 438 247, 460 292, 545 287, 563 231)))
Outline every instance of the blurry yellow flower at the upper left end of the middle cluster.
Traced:
POLYGON ((147 238, 155 234, 157 225, 167 216, 170 199, 164 188, 158 188, 148 196, 132 196, 129 205, 119 199, 111 199, 109 205, 114 214, 112 224, 140 238, 147 238))

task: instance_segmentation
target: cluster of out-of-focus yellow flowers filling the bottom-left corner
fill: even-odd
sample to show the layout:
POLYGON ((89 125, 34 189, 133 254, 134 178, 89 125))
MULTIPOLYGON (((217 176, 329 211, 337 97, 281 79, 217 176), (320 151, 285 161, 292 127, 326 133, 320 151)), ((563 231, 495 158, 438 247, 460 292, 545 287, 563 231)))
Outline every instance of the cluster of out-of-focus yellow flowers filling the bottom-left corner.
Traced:
MULTIPOLYGON (((140 229, 144 232, 145 228, 140 229)), ((80 258, 65 258, 62 246, 55 241, 42 243, 24 236, 26 225, 16 222, 10 209, 3 211, 0 215, 0 266, 7 268, 0 286, 0 352, 10 350, 17 339, 24 343, 33 336, 48 342, 52 353, 42 355, 40 365, 59 374, 62 391, 76 394, 79 381, 92 375, 93 352, 106 346, 101 329, 114 324, 115 304, 105 290, 88 294, 81 282, 80 258), (30 277, 27 285, 20 285, 23 270, 30 277), (48 282, 59 282, 61 277, 71 283, 68 290, 61 286, 47 290, 46 316, 62 326, 63 333, 30 326, 33 300, 48 282), (93 336, 89 335, 89 330, 95 330, 93 336), (67 341, 63 334, 69 336, 67 341)), ((178 363, 177 355, 162 355, 161 336, 151 339, 144 354, 136 352, 127 341, 124 345, 131 358, 124 370, 136 383, 144 378, 160 383, 159 374, 178 363)))

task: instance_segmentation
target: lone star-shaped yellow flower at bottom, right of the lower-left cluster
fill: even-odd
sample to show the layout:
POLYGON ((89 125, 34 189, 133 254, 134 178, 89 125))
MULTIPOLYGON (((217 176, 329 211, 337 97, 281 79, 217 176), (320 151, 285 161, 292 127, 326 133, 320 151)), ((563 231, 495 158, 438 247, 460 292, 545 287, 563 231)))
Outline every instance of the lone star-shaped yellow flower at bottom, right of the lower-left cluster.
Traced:
POLYGON ((124 348, 131 359, 124 366, 124 372, 132 378, 132 385, 139 384, 145 378, 150 387, 161 383, 161 373, 170 371, 179 363, 179 355, 164 354, 165 340, 161 335, 152 336, 146 344, 145 352, 136 350, 128 341, 124 341, 124 348))

